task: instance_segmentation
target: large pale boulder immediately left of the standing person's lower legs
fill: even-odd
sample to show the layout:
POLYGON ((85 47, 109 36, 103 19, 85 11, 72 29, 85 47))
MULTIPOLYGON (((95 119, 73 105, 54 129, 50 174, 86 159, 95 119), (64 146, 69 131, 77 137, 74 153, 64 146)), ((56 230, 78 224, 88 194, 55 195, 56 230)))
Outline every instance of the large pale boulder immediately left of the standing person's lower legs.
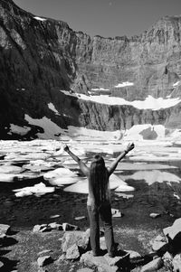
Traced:
POLYGON ((62 237, 62 252, 66 252, 72 245, 77 245, 81 250, 88 249, 90 232, 67 231, 62 237))

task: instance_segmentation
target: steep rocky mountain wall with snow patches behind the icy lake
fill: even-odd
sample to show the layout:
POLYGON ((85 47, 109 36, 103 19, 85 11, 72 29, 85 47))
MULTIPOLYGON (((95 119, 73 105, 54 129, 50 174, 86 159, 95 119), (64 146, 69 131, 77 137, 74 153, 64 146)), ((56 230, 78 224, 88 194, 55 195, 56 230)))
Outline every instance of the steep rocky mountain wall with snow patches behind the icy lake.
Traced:
POLYGON ((0 138, 36 137, 47 120, 62 129, 180 128, 180 38, 181 16, 130 39, 90 37, 0 0, 0 138), (167 106, 144 106, 147 98, 167 106))

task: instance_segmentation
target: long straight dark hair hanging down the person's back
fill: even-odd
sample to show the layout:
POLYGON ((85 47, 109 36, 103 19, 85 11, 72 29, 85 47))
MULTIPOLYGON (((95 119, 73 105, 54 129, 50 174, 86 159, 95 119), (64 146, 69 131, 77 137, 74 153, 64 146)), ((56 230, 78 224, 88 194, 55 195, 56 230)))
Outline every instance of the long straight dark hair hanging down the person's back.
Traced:
POLYGON ((106 201, 108 189, 108 171, 105 167, 104 159, 100 155, 95 155, 90 164, 89 190, 96 205, 106 201))

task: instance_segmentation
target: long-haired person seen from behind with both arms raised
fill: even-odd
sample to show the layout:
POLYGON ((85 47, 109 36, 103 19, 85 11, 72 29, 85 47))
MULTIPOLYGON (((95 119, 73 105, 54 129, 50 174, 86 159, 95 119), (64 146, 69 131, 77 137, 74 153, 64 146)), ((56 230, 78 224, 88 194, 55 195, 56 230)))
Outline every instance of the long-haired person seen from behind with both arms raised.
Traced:
POLYGON ((119 161, 134 148, 134 144, 129 144, 126 150, 121 153, 115 161, 106 168, 104 159, 100 155, 95 155, 90 164, 90 168, 81 159, 74 155, 67 145, 64 145, 71 158, 80 166, 81 172, 88 177, 89 195, 87 201, 88 213, 90 217, 90 246, 93 256, 100 255, 100 225, 99 215, 104 223, 106 246, 110 258, 115 256, 115 244, 112 229, 112 217, 110 207, 110 174, 114 172, 119 161))

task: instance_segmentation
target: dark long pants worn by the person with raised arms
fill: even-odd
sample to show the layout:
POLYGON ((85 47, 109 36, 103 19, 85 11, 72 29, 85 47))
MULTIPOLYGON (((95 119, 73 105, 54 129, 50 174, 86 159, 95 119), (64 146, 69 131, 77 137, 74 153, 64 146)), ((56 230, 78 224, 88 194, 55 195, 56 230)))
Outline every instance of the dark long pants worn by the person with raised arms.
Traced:
POLYGON ((100 252, 100 215, 100 218, 104 223, 106 247, 109 255, 112 255, 114 252, 114 237, 110 202, 101 204, 99 208, 88 206, 88 213, 90 217, 90 246, 93 254, 98 255, 100 252))

